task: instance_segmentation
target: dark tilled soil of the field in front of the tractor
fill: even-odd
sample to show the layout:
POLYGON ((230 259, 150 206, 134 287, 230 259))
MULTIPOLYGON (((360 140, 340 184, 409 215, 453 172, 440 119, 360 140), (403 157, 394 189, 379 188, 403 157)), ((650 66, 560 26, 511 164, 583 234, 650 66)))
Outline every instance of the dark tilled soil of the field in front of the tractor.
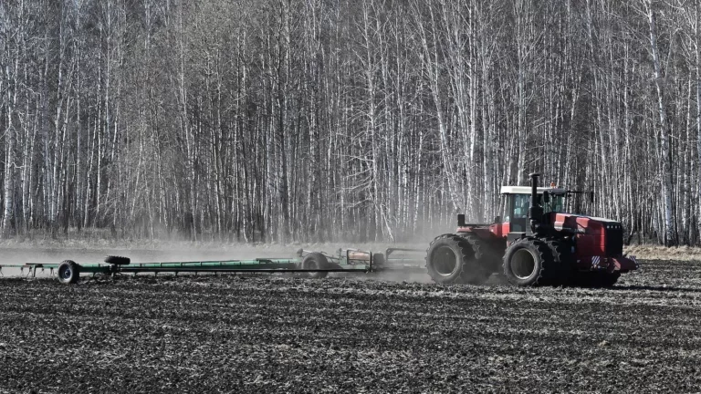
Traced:
POLYGON ((0 280, 0 392, 697 392, 701 264, 613 289, 0 280))

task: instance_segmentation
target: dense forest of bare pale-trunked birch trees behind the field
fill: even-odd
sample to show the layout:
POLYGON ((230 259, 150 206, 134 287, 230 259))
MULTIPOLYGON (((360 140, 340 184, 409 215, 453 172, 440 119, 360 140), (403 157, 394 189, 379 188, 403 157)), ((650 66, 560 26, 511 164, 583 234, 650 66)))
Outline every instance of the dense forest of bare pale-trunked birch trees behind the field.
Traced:
POLYGON ((539 171, 633 242, 701 244, 699 23, 697 0, 3 0, 2 234, 399 242, 539 171))

